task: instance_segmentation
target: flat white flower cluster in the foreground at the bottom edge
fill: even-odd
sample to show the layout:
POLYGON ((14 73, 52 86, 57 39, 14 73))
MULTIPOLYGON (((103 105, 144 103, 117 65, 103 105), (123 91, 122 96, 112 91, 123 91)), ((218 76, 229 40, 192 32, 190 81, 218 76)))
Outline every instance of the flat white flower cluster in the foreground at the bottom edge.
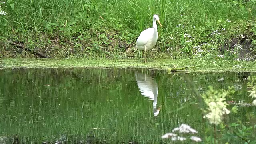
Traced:
MULTIPOLYGON (((191 128, 187 124, 181 124, 180 127, 174 128, 172 130, 172 132, 178 132, 179 134, 189 134, 189 133, 196 134, 196 133, 198 133, 196 130, 194 130, 193 128, 191 128)), ((162 138, 171 138, 172 141, 176 141, 176 140, 184 141, 184 140, 186 140, 185 137, 178 136, 177 134, 174 134, 174 133, 166 133, 162 136, 162 138)), ((199 138, 197 136, 191 136, 190 139, 195 141, 195 142, 201 142, 202 141, 201 138, 199 138)))

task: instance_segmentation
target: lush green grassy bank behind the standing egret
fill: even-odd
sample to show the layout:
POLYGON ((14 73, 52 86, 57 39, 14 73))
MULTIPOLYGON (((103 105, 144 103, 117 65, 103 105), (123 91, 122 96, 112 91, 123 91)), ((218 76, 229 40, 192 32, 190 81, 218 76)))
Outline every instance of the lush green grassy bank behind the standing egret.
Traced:
MULTIPOLYGON (((130 58, 140 32, 158 14, 152 58, 255 52, 254 0, 7 0, 1 4, 0 57, 130 58), (245 51, 243 51, 245 50, 245 51), (249 50, 249 51, 246 51, 249 50), (223 53, 225 52, 225 53, 223 53)), ((234 55, 235 54, 235 55, 234 55)), ((242 54, 242 55, 241 55, 242 54)))

